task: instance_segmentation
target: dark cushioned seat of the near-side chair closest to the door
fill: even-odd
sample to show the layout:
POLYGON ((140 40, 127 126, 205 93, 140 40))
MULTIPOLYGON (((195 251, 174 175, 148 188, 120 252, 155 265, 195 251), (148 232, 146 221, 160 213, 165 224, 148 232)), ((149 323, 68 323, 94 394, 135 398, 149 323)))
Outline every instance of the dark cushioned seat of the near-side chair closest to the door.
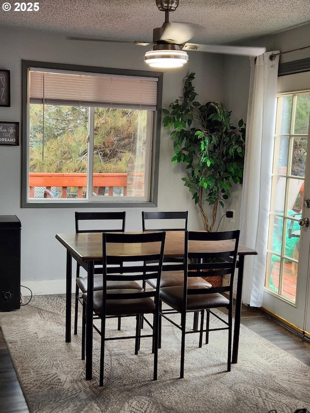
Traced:
MULTIPOLYGON (((159 298, 175 310, 181 311, 183 303, 183 286, 161 288, 159 291, 159 298)), ((218 292, 212 294, 194 294, 187 295, 186 310, 195 311, 203 308, 226 307, 228 305, 229 300, 218 292)))

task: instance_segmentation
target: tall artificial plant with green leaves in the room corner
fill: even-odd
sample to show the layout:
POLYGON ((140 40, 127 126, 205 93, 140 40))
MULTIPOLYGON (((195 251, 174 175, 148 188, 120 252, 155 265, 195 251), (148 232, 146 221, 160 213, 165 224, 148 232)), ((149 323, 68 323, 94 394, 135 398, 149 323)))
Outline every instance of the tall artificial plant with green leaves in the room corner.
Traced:
POLYGON ((206 231, 212 231, 217 207, 231 196, 232 183, 242 184, 245 153, 245 123, 231 124, 231 111, 220 102, 201 105, 192 81, 195 73, 183 79, 183 96, 162 109, 164 126, 171 130, 174 153, 172 161, 184 163, 188 170, 182 178, 198 204, 206 231), (212 217, 204 202, 213 205, 212 217))

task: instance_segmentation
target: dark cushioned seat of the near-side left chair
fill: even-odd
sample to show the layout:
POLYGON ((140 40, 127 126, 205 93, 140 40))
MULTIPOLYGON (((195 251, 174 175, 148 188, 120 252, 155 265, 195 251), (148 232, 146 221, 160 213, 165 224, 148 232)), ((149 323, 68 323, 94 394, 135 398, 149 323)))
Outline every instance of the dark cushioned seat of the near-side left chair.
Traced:
MULTIPOLYGON (((107 294, 128 294, 132 292, 140 292, 137 289, 125 290, 109 290, 107 294)), ((103 291, 93 292, 93 311, 97 316, 102 315, 102 293, 103 291)), ((87 292, 82 295, 82 299, 87 303, 87 292)), ((132 300, 119 299, 107 300, 106 314, 108 316, 122 316, 134 314, 153 314, 155 313, 155 303, 151 298, 135 298, 132 300)))

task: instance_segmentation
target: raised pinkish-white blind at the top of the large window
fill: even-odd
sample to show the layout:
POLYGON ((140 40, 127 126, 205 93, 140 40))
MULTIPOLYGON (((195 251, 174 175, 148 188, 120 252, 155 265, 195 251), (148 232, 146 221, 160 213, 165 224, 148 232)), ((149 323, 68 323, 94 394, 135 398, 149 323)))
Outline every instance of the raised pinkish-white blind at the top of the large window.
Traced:
POLYGON ((157 78, 30 69, 30 102, 156 110, 157 78))

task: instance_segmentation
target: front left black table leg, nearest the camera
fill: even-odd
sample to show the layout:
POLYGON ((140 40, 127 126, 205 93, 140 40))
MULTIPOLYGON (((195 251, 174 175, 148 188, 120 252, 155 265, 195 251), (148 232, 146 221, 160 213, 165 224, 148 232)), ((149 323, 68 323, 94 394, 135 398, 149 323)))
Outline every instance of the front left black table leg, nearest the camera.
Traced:
POLYGON ((86 380, 93 375, 93 261, 88 262, 86 306, 86 380))

